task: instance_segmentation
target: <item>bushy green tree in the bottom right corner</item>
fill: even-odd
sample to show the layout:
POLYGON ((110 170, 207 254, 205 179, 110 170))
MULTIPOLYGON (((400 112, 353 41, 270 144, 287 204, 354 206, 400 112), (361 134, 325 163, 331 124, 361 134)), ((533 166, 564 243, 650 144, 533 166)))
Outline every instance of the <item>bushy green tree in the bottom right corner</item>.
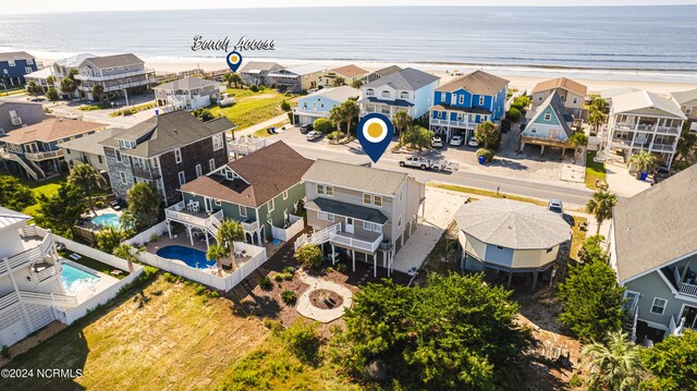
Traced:
POLYGON ((641 354, 644 366, 662 391, 697 390, 697 331, 668 337, 641 354))

